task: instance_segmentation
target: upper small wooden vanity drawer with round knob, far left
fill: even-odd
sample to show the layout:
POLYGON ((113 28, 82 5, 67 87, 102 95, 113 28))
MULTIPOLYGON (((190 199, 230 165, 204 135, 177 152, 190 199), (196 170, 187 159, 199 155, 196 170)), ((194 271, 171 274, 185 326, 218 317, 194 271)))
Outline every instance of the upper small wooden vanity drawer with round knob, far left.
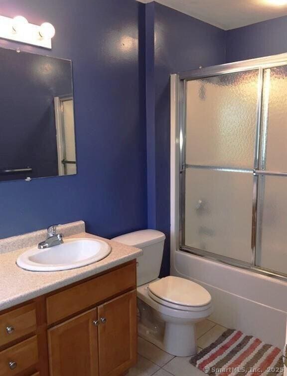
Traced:
POLYGON ((0 346, 36 331, 35 304, 0 315, 0 346))

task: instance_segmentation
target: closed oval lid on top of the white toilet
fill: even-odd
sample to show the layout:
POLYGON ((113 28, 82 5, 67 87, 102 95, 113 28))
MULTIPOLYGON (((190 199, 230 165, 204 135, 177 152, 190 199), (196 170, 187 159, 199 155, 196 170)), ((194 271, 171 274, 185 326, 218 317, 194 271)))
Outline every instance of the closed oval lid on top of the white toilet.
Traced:
POLYGON ((211 302, 207 290, 192 281, 180 277, 165 277, 149 284, 149 291, 158 298, 187 307, 202 307, 211 302))

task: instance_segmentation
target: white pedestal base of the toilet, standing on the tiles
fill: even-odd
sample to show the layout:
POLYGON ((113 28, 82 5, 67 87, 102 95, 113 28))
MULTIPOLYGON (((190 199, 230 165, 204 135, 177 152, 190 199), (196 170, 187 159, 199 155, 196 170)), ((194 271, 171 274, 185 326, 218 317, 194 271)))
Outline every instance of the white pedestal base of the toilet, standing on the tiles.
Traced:
POLYGON ((197 354, 194 325, 165 323, 164 329, 138 324, 138 334, 159 349, 176 357, 192 357, 197 354))

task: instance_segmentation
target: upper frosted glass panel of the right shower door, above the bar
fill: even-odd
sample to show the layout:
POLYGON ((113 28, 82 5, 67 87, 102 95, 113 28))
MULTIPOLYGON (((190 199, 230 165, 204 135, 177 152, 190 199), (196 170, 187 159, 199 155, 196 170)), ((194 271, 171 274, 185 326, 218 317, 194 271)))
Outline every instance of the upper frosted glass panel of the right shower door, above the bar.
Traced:
POLYGON ((266 169, 287 172, 287 66, 265 70, 264 93, 269 94, 266 169))

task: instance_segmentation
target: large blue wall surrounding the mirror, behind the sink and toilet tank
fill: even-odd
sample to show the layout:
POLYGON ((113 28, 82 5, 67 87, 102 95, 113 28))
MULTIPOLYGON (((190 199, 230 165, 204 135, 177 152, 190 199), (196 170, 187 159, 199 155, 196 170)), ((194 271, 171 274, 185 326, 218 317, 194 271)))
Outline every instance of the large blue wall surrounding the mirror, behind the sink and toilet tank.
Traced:
POLYGON ((75 176, 0 183, 1 238, 80 219, 106 237, 146 227, 143 11, 135 0, 1 2, 2 15, 56 28, 51 51, 22 50, 72 59, 78 161, 75 176))

